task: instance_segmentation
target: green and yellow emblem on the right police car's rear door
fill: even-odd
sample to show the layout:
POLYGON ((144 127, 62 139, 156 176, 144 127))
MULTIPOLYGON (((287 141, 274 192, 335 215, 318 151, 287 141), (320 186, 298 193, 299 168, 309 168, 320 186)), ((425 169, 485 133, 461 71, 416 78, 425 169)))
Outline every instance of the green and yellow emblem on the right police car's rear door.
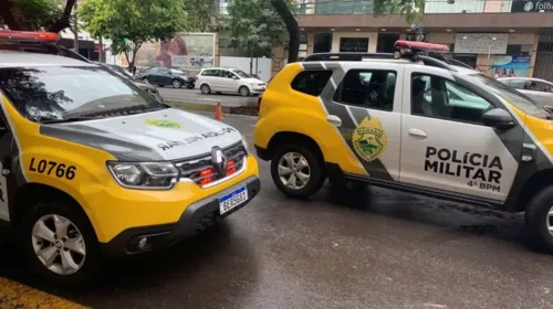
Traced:
POLYGON ((386 149, 387 142, 380 120, 375 117, 371 119, 365 117, 352 134, 355 152, 367 162, 378 159, 386 149))

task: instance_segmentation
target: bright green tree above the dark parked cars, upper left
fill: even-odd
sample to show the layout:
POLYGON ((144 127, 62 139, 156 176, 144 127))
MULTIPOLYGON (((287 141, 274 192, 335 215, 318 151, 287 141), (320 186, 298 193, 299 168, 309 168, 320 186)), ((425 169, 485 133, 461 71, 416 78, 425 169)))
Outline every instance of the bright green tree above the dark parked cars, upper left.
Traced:
POLYGON ((129 70, 144 43, 170 39, 187 23, 182 0, 87 0, 77 13, 92 36, 112 40, 112 52, 125 54, 129 70))

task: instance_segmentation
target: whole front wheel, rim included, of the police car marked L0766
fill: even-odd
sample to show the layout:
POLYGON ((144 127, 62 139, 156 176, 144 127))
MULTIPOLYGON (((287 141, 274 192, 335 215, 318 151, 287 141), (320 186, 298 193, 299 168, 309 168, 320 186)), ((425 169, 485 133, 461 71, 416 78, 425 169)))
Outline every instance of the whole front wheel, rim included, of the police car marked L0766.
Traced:
POLYGON ((79 206, 36 204, 24 214, 22 228, 30 266, 48 283, 74 287, 96 274, 98 242, 79 206))

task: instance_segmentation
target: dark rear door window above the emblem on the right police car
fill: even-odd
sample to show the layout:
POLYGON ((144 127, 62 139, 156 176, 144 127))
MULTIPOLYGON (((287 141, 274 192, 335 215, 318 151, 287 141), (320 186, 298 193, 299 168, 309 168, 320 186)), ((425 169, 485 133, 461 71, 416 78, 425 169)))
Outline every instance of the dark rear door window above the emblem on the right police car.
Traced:
POLYGON ((347 105, 388 110, 394 108, 396 73, 383 70, 349 70, 334 100, 347 105))

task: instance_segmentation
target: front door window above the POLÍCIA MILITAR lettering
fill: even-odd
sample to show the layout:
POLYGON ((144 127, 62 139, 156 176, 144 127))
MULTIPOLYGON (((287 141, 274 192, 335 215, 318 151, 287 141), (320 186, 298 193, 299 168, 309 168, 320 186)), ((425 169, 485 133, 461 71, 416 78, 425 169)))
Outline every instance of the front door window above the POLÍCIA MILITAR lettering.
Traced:
POLYGON ((438 76, 411 76, 411 114, 481 124, 492 105, 473 92, 438 76))

